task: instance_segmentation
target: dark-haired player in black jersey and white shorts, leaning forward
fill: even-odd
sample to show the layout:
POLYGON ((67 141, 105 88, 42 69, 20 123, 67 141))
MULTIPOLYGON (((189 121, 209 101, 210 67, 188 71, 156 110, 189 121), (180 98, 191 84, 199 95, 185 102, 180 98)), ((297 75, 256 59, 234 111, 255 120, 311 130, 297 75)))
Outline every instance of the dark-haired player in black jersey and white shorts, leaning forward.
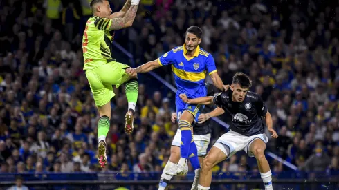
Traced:
POLYGON ((188 104, 216 104, 219 108, 209 113, 210 116, 215 117, 226 112, 226 120, 230 124, 230 131, 219 137, 203 160, 199 190, 210 189, 212 167, 241 150, 257 159, 265 189, 273 189, 271 169, 264 155, 268 138, 264 134, 265 124, 262 117, 265 117, 266 126, 273 138, 277 138, 277 133, 262 98, 257 93, 248 91, 251 85, 247 75, 236 73, 231 89, 214 97, 187 99, 185 94, 180 95, 183 102, 188 104))

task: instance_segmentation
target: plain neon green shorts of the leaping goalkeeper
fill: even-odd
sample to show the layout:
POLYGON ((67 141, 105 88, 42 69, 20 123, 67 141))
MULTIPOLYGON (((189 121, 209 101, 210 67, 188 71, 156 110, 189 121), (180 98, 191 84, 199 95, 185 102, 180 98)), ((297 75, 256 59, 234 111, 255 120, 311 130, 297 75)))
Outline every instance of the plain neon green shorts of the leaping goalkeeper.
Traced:
POLYGON ((113 92, 113 85, 118 88, 127 82, 129 75, 125 73, 130 66, 111 61, 92 70, 86 70, 86 77, 93 93, 96 106, 103 106, 110 102, 116 94, 113 92))

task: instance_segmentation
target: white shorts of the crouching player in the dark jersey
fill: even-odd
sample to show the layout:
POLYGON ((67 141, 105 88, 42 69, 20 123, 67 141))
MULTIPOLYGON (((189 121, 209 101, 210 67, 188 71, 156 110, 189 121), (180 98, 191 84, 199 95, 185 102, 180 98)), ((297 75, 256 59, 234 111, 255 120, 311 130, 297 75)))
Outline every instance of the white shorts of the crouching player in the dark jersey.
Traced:
POLYGON ((248 156, 253 157, 253 153, 251 153, 248 149, 250 149, 250 144, 256 139, 261 139, 265 142, 265 144, 268 141, 268 138, 265 134, 258 134, 253 135, 250 137, 247 137, 245 135, 241 135, 235 131, 228 131, 228 133, 223 134, 213 146, 217 147, 223 153, 227 155, 227 151, 225 149, 225 146, 227 145, 230 148, 230 154, 227 156, 227 158, 230 158, 230 156, 234 155, 235 153, 244 150, 248 156))

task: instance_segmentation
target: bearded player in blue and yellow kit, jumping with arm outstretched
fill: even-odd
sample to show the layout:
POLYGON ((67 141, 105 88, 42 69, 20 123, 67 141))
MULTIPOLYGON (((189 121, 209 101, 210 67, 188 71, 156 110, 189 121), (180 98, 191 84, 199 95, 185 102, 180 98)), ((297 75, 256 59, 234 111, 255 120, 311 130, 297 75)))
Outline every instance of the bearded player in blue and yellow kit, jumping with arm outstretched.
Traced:
POLYGON ((129 75, 135 75, 136 73, 147 73, 160 66, 171 65, 174 73, 178 88, 176 92, 176 113, 178 115, 179 129, 181 130, 180 154, 176 153, 176 155, 181 155, 181 158, 174 159, 172 157, 174 151, 178 152, 178 149, 172 149, 172 146, 172 159, 170 158, 164 169, 165 173, 161 175, 165 185, 160 184, 160 186, 166 186, 167 182, 172 178, 170 176, 187 173, 187 158, 189 156, 194 171, 196 171, 196 174, 199 174, 200 164, 197 158, 196 144, 192 137, 191 126, 193 122, 198 121, 204 106, 201 106, 201 104, 185 104, 179 95, 185 93, 192 98, 205 96, 207 94, 205 87, 206 74, 210 75, 214 86, 217 86, 221 91, 224 88, 223 82, 217 74, 217 68, 212 55, 199 47, 201 35, 201 28, 191 26, 186 31, 185 44, 183 46, 178 46, 158 59, 143 64, 138 68, 127 68, 126 70, 129 75))

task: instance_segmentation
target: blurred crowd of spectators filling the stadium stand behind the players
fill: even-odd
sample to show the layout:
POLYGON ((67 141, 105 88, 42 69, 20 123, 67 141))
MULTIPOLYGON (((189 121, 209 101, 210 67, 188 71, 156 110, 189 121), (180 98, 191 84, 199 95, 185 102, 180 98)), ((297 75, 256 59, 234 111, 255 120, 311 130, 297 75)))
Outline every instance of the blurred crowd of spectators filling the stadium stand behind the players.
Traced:
MULTIPOLYGON (((147 94, 149 84, 140 84, 132 135, 122 127, 125 88, 116 91, 109 164, 98 167, 98 113, 82 70, 88 1, 55 1, 57 9, 50 1, 0 1, 0 173, 162 171, 177 124, 166 95, 147 94)), ((124 3, 110 2, 113 11, 124 3)), ((280 135, 268 149, 302 171, 336 171, 339 5, 305 2, 141 0, 133 27, 117 31, 116 41, 143 64, 183 45, 188 26, 200 26, 201 47, 212 53, 223 82, 248 73, 250 90, 268 105, 280 135)), ((172 82, 170 67, 157 72, 172 82)), ((257 171, 247 162, 234 156, 214 171, 257 171)))

